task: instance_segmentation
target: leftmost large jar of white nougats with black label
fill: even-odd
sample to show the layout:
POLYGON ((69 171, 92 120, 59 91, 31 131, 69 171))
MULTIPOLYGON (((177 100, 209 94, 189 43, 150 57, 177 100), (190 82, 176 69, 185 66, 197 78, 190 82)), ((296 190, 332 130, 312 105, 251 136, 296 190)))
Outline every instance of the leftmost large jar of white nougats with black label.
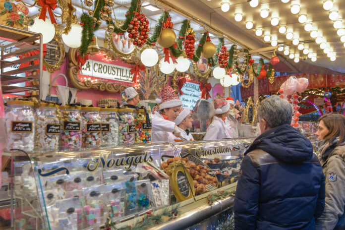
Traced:
POLYGON ((9 101, 5 111, 8 143, 6 150, 34 150, 35 112, 34 103, 9 101))

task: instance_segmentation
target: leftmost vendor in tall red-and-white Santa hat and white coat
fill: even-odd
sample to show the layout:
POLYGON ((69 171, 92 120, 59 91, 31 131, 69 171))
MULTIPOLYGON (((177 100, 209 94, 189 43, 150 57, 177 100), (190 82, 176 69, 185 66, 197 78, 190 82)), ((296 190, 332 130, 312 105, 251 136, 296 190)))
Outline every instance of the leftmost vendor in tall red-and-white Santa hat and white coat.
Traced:
POLYGON ((152 142, 173 142, 173 136, 178 138, 181 131, 173 122, 182 106, 182 101, 173 92, 169 85, 163 86, 160 92, 159 112, 151 114, 152 117, 152 142))

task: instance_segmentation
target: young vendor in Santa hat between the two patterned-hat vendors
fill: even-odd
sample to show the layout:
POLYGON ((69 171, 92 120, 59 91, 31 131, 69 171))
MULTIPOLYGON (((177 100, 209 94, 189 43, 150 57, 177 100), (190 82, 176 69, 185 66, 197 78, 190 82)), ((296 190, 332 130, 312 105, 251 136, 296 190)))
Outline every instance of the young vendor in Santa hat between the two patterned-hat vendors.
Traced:
POLYGON ((181 108, 178 112, 179 114, 174 122, 181 131, 180 138, 184 141, 193 141, 194 138, 188 130, 192 128, 193 125, 193 118, 190 110, 187 108, 181 108))

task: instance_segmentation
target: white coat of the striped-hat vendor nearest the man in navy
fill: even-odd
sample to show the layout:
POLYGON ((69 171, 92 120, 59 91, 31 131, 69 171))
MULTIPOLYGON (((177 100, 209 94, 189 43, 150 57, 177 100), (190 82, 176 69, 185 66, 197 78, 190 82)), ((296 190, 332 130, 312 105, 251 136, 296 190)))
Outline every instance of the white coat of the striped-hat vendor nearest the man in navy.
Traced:
POLYGON ((212 123, 206 130, 204 140, 219 140, 224 138, 232 138, 231 131, 227 128, 222 118, 214 116, 212 123))

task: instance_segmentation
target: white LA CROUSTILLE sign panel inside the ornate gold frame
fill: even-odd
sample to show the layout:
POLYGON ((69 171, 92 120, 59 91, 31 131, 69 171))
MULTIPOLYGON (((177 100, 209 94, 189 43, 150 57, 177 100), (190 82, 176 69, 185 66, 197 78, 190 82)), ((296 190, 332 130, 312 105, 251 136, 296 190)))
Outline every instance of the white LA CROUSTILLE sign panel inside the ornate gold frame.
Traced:
POLYGON ((87 60, 81 69, 81 74, 103 79, 132 82, 131 68, 110 64, 97 60, 87 60))

